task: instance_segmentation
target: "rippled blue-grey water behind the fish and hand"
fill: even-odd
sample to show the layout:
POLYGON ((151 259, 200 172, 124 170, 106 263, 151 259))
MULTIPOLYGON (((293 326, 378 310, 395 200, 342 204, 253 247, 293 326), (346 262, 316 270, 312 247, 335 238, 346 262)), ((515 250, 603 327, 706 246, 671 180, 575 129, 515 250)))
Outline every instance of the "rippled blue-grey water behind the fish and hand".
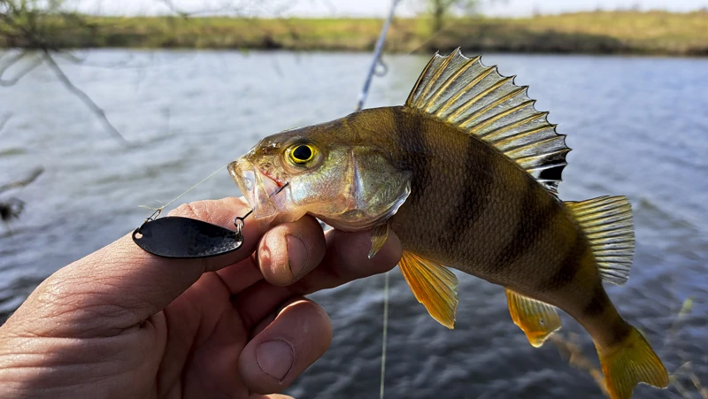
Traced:
MULTIPOLYGON (((258 137, 349 113, 367 54, 91 51, 66 73, 138 144, 126 149, 67 93, 50 70, 0 88, 0 184, 46 172, 4 193, 27 202, 0 229, 3 319, 51 272, 135 228, 149 211, 248 150, 258 137), (12 231, 12 234, 11 234, 12 231)), ((402 104, 427 57, 387 56, 368 106, 402 104)), ((518 74, 539 110, 568 134, 560 195, 628 196, 637 248, 627 286, 610 288, 667 368, 686 360, 708 384, 708 61, 672 58, 489 55, 518 74), (693 311, 668 331, 684 299, 693 311), (685 351, 685 359, 680 352, 685 351)), ((219 173, 184 198, 233 196, 219 173)), ((400 273, 392 274, 387 397, 602 397, 553 344, 533 349, 512 324, 502 288, 460 275, 458 324, 429 318, 400 273)), ((378 397, 383 277, 312 295, 332 317, 332 349, 289 389, 298 398, 378 397)), ((570 318, 564 331, 589 336, 570 318)), ((685 378, 681 378, 688 383, 685 378)), ((635 397, 678 397, 639 387, 635 397)))

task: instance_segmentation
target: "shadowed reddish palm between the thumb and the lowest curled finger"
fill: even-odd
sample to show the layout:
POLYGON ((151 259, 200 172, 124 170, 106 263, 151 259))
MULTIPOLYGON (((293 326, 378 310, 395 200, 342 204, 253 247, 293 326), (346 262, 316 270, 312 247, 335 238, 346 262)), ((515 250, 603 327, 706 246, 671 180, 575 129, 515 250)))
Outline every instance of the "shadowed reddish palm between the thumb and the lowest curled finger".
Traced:
POLYGON ((215 272, 204 274, 156 319, 157 344, 165 348, 156 379, 159 397, 248 396, 238 359, 250 328, 215 272))

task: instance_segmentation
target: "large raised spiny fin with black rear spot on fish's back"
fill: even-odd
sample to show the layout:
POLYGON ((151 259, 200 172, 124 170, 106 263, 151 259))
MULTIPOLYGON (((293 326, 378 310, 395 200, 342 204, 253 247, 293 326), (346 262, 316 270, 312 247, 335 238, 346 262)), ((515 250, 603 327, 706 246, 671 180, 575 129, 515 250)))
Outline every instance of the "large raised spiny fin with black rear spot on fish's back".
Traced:
POLYGON ((548 112, 535 110, 527 86, 513 79, 459 49, 447 57, 435 54, 405 105, 487 142, 557 195, 570 151, 566 136, 556 133, 548 112))

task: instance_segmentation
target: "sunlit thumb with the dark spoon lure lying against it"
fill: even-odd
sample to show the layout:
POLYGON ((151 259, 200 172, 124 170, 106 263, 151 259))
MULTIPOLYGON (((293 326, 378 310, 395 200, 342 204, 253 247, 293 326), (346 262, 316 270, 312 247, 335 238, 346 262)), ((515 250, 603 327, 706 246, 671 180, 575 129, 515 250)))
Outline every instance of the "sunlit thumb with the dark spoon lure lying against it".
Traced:
MULTIPOLYGON (((249 210, 242 198, 231 197, 181 205, 170 215, 200 219, 234 230, 234 218, 249 210)), ((128 234, 52 274, 15 316, 26 320, 19 314, 31 312, 35 319, 41 318, 42 329, 47 328, 52 336, 115 334, 140 325, 165 309, 202 273, 250 257, 267 227, 247 219, 241 249, 199 259, 157 257, 135 245, 128 234)), ((12 318, 8 320, 11 322, 12 318)))

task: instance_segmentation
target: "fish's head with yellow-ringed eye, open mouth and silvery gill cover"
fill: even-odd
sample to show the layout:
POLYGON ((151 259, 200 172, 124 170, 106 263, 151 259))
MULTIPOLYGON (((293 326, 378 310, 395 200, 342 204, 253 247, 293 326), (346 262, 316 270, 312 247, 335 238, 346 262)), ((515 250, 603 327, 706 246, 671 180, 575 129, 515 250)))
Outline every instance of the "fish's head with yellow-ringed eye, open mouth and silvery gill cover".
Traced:
POLYGON ((286 223, 311 214, 342 230, 362 230, 396 213, 410 173, 380 146, 330 122, 273 134, 228 165, 255 219, 286 223))

